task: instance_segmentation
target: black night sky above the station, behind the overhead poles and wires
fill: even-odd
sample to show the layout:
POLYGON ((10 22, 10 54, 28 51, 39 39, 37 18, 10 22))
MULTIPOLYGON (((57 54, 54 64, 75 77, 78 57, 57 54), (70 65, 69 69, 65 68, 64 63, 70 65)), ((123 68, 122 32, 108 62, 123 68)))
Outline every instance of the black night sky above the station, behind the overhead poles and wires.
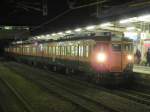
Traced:
MULTIPOLYGON (((30 9, 26 6, 34 8, 42 8, 42 0, 1 0, 0 2, 0 24, 1 25, 27 25, 30 27, 38 26, 48 21, 56 15, 69 9, 68 1, 74 3, 74 7, 81 6, 102 0, 47 0, 48 15, 43 16, 41 11, 30 9), (73 2, 74 1, 74 2, 73 2), (22 5, 23 4, 23 5, 22 5), (24 6, 26 5, 26 6, 24 6)), ((114 7, 132 0, 105 0, 101 5, 102 10, 114 7)), ((133 0, 134 1, 134 0, 133 0)), ((69 3, 70 3, 69 2, 69 3)), ((64 16, 59 17, 55 21, 44 25, 36 32, 41 31, 57 31, 78 27, 85 24, 93 24, 98 22, 96 17, 96 6, 86 7, 82 9, 72 10, 64 16)))

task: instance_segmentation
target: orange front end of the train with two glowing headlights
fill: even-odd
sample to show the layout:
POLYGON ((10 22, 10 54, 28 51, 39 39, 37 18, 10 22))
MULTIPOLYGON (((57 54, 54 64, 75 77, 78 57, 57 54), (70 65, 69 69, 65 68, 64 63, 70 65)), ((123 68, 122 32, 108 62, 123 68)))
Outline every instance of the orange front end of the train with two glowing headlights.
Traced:
MULTIPOLYGON (((132 42, 97 42, 91 56, 91 65, 101 78, 122 79, 133 70, 132 42)), ((101 79, 99 79, 101 80, 101 79)))

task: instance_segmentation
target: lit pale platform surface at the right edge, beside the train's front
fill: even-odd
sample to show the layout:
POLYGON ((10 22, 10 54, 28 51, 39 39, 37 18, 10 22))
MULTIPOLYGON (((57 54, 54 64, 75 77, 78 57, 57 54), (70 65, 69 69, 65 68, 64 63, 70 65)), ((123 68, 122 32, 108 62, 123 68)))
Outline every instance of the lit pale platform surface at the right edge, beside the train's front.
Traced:
POLYGON ((134 65, 133 72, 135 72, 135 73, 142 73, 142 74, 149 74, 150 75, 150 67, 134 65))

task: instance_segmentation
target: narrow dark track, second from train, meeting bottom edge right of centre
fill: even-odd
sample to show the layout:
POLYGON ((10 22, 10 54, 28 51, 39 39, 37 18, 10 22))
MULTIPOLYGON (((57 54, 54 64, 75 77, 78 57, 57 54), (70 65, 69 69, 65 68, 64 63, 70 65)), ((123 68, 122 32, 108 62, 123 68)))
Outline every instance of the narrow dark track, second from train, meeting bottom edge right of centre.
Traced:
MULTIPOLYGON (((24 74, 22 75, 26 77, 24 74)), ((46 91, 50 93, 52 92, 57 96, 63 97, 64 100, 70 101, 71 103, 76 105, 77 108, 81 108, 82 112, 118 112, 100 104, 99 102, 81 96, 56 82, 51 82, 50 80, 43 79, 42 77, 36 77, 40 80, 33 79, 35 78, 35 75, 30 75, 30 77, 26 78, 32 82, 35 82, 37 85, 41 86, 41 88, 44 88, 46 91)))

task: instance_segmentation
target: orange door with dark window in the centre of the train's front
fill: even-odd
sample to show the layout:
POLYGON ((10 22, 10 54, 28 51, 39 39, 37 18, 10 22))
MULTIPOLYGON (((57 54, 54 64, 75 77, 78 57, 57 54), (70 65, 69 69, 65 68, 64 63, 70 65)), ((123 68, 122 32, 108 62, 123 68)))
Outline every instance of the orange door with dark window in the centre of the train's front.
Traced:
POLYGON ((121 43, 111 44, 110 63, 111 63, 110 64, 111 72, 122 71, 122 45, 121 43))

